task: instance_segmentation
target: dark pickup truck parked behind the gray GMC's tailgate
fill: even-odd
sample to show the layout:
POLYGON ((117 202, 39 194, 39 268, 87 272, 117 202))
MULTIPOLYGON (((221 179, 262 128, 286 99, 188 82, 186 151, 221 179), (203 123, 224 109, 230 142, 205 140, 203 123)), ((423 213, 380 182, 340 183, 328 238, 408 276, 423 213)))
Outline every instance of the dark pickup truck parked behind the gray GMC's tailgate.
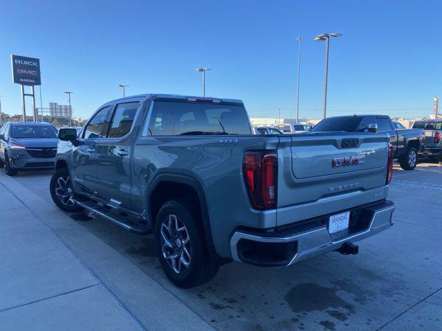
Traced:
POLYGON ((386 115, 354 115, 328 117, 320 121, 310 132, 385 132, 390 136, 397 159, 403 170, 416 168, 418 153, 423 150, 423 129, 396 129, 386 115))

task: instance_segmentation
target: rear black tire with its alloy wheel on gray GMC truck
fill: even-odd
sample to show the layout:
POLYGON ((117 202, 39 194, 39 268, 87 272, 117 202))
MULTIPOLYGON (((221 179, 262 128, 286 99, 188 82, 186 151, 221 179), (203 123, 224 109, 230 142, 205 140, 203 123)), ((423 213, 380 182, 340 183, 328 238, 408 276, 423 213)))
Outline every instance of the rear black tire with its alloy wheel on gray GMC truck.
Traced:
POLYGON ((155 245, 158 259, 160 259, 160 264, 167 278, 180 288, 193 288, 206 283, 215 277, 220 268, 219 265, 210 261, 200 217, 191 210, 190 203, 184 199, 170 200, 162 205, 155 220, 155 245), (175 232, 175 235, 167 230, 171 217, 172 222, 176 219, 180 224, 175 228, 181 230, 175 232), (182 230, 182 225, 184 230, 182 230), (170 234, 168 239, 169 243, 173 243, 173 248, 164 244, 162 231, 166 237, 169 237, 170 234), (186 241, 187 238, 189 241, 186 241), (164 253, 163 246, 165 247, 164 253), (184 250, 187 250, 189 254, 184 254, 184 250), (176 255, 177 258, 166 259, 164 254, 169 257, 176 255), (184 257, 184 261, 189 263, 188 266, 181 262, 182 257, 184 257), (177 263, 179 264, 177 265, 177 263), (175 270, 173 265, 175 265, 175 270))

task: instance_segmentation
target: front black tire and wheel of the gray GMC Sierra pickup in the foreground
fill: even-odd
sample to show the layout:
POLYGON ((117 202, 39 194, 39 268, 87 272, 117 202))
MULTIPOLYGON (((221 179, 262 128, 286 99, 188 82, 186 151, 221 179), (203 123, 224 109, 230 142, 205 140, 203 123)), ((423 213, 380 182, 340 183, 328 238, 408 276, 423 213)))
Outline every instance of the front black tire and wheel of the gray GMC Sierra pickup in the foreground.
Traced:
POLYGON ((52 175, 49 184, 50 196, 55 205, 65 212, 81 212, 81 208, 72 199, 74 192, 67 168, 60 168, 52 175), (64 185, 62 185, 64 183, 64 185), (61 197, 63 196, 63 197, 61 197))

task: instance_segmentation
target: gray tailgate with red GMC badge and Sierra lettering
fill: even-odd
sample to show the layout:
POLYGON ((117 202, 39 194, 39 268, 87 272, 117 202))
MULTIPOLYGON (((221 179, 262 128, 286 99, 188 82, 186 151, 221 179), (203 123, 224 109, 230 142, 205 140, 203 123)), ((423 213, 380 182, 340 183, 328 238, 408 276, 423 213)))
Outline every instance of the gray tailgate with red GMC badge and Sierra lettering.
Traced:
POLYGON ((386 134, 294 134, 278 146, 277 224, 385 199, 386 134))

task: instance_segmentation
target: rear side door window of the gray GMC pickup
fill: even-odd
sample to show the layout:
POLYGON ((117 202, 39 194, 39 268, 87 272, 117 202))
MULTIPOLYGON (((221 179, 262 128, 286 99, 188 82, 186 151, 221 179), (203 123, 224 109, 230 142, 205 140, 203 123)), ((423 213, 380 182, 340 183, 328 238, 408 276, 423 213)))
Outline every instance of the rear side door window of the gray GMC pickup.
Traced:
POLYGON ((131 132, 133 120, 139 107, 139 101, 119 103, 115 108, 107 137, 119 138, 131 132))

